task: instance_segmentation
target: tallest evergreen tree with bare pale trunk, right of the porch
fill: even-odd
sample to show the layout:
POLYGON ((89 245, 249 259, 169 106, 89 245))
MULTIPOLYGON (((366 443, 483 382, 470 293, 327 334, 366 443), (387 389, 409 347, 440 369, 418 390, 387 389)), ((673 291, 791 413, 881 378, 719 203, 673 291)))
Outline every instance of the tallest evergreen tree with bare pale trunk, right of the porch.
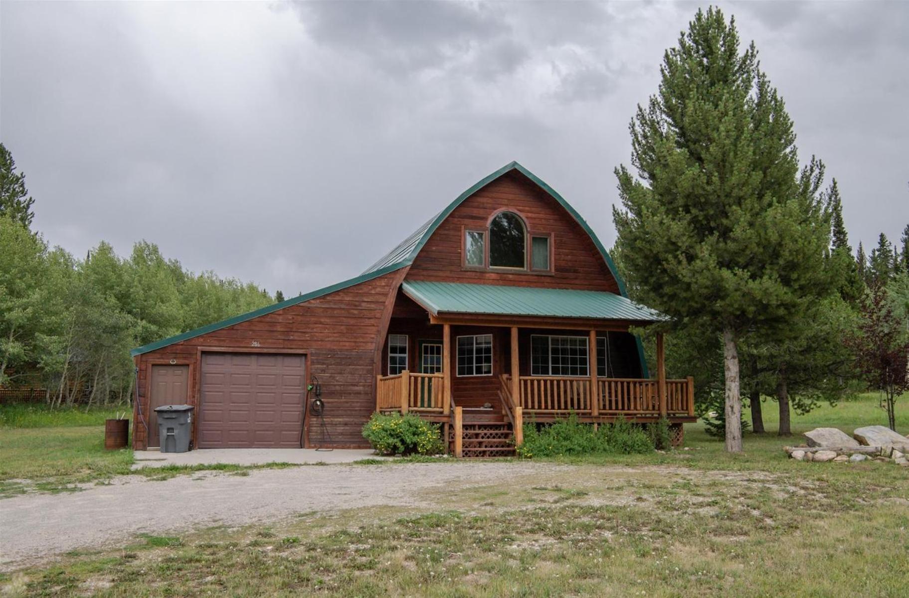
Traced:
POLYGON ((699 10, 630 125, 635 177, 616 169, 625 267, 641 299, 723 338, 725 445, 742 450, 738 343, 781 329, 828 287, 823 164, 799 173, 792 121, 734 20, 699 10))

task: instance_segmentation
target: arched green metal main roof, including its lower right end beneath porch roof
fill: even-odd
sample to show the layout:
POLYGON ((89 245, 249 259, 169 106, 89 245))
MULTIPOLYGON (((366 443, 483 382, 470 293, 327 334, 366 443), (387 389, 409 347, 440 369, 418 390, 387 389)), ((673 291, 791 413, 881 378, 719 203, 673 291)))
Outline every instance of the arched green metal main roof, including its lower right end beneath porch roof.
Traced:
MULTIPOLYGON (((526 176, 531 181, 533 181, 534 184, 537 184, 540 188, 542 188, 556 202, 558 202, 559 205, 564 207, 565 211, 567 211, 568 214, 571 214, 572 218, 574 218, 574 222, 581 225, 581 228, 584 229, 584 232, 586 234, 588 234, 590 236, 590 239, 594 242, 594 245, 596 246, 597 251, 599 251, 600 255, 603 256, 603 259, 606 263, 606 267, 609 268, 609 272, 613 274, 613 278, 615 279, 615 284, 619 287, 619 294, 621 294, 623 297, 627 298, 628 291, 625 287, 624 280, 622 279, 622 275, 619 274, 618 268, 615 267, 615 263, 613 262, 613 258, 609 256, 609 252, 606 251, 606 248, 600 242, 600 239, 599 239, 599 237, 596 236, 596 233, 594 233, 594 230, 590 227, 589 224, 587 224, 587 221, 584 220, 584 218, 581 216, 581 214, 577 213, 577 210, 575 210, 571 204, 569 204, 567 201, 565 201, 565 199, 562 195, 558 194, 557 191, 555 191, 551 186, 546 184, 543 181, 543 179, 541 179, 539 176, 530 172, 529 170, 524 168, 524 166, 522 166, 521 164, 518 164, 516 161, 510 162, 509 164, 505 164, 502 168, 499 168, 494 173, 484 176, 482 179, 480 179, 479 181, 474 183, 469 189, 464 191, 463 194, 458 195, 457 198, 454 200, 454 202, 452 202, 451 204, 448 204, 448 207, 446 207, 445 210, 443 210, 438 215, 436 215, 435 218, 430 223, 424 224, 423 226, 420 227, 420 229, 423 229, 422 233, 421 233, 420 229, 417 229, 415 234, 420 234, 419 241, 415 244, 414 248, 407 254, 407 256, 404 259, 394 261, 391 264, 384 263, 387 258, 394 256, 396 253, 401 251, 403 248, 403 245, 407 244, 407 241, 409 239, 411 239, 411 237, 414 237, 415 234, 411 234, 410 237, 405 239, 405 241, 402 244, 397 245, 394 249, 392 249, 391 252, 386 254, 385 257, 383 257, 376 264, 371 266, 371 268, 369 270, 366 270, 366 272, 364 274, 370 273, 372 271, 372 268, 390 267, 391 265, 397 265, 398 267, 403 267, 405 265, 413 264, 414 260, 416 258, 416 255, 420 253, 421 249, 423 249, 423 246, 429 240, 429 237, 431 237, 433 235, 433 233, 435 233, 435 229, 439 227, 439 224, 442 224, 445 221, 445 218, 447 218, 449 216, 449 214, 454 212, 454 208, 456 208, 458 205, 464 203, 465 199, 467 199, 468 197, 470 197, 471 195, 473 195, 474 193, 476 193, 477 191, 482 189, 487 184, 492 183, 495 179, 499 178, 503 174, 509 173, 513 170, 516 170, 517 172, 524 174, 524 176, 526 176)), ((645 378, 650 377, 650 374, 648 373, 648 370, 647 370, 647 360, 646 360, 646 358, 644 358, 644 344, 641 343, 641 339, 639 336, 637 336, 637 334, 634 335, 634 339, 637 342, 637 354, 638 354, 638 358, 641 361, 641 372, 643 373, 645 378)))

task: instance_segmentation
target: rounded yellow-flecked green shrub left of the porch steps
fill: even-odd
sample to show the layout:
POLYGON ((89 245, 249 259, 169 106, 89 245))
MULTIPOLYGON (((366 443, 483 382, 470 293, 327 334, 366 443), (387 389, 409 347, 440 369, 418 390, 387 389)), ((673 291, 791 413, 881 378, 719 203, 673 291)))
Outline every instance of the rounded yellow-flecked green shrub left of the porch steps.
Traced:
POLYGON ((438 454, 445 451, 438 424, 416 415, 373 414, 363 436, 379 454, 438 454))

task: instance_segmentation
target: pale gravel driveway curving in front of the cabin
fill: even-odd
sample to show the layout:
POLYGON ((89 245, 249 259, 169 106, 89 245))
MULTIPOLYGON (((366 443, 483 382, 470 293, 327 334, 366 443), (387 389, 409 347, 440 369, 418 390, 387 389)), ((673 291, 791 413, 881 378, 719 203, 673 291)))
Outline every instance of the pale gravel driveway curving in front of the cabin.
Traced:
POLYGON ((274 521, 305 511, 380 504, 428 505, 421 491, 509 483, 559 466, 544 463, 402 463, 207 473, 162 482, 116 478, 84 492, 25 494, 0 501, 0 570, 79 547, 128 542, 216 524, 274 521), (195 478, 195 479, 194 479, 195 478))

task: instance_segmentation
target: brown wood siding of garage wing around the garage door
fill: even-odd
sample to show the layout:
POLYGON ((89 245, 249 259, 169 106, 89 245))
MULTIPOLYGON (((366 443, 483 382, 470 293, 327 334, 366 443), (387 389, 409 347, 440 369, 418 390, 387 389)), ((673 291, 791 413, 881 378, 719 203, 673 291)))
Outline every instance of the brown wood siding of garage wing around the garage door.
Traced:
MULTIPOLYGON (((330 441, 326 437, 324 444, 338 448, 368 446, 360 430, 375 408, 376 357, 385 341, 387 313, 392 307, 388 298, 404 274, 405 270, 385 274, 303 304, 138 355, 135 358, 139 368, 136 410, 142 408, 147 422, 147 383, 152 363, 167 364, 174 360, 175 364, 191 365, 187 403, 198 408, 199 359, 203 351, 305 353, 307 378, 315 375, 322 384, 325 424, 330 435, 330 441)), ((135 415, 133 444, 141 450, 146 448, 145 426, 135 415)), ((307 415, 307 428, 310 444, 320 444, 321 423, 307 415)))

